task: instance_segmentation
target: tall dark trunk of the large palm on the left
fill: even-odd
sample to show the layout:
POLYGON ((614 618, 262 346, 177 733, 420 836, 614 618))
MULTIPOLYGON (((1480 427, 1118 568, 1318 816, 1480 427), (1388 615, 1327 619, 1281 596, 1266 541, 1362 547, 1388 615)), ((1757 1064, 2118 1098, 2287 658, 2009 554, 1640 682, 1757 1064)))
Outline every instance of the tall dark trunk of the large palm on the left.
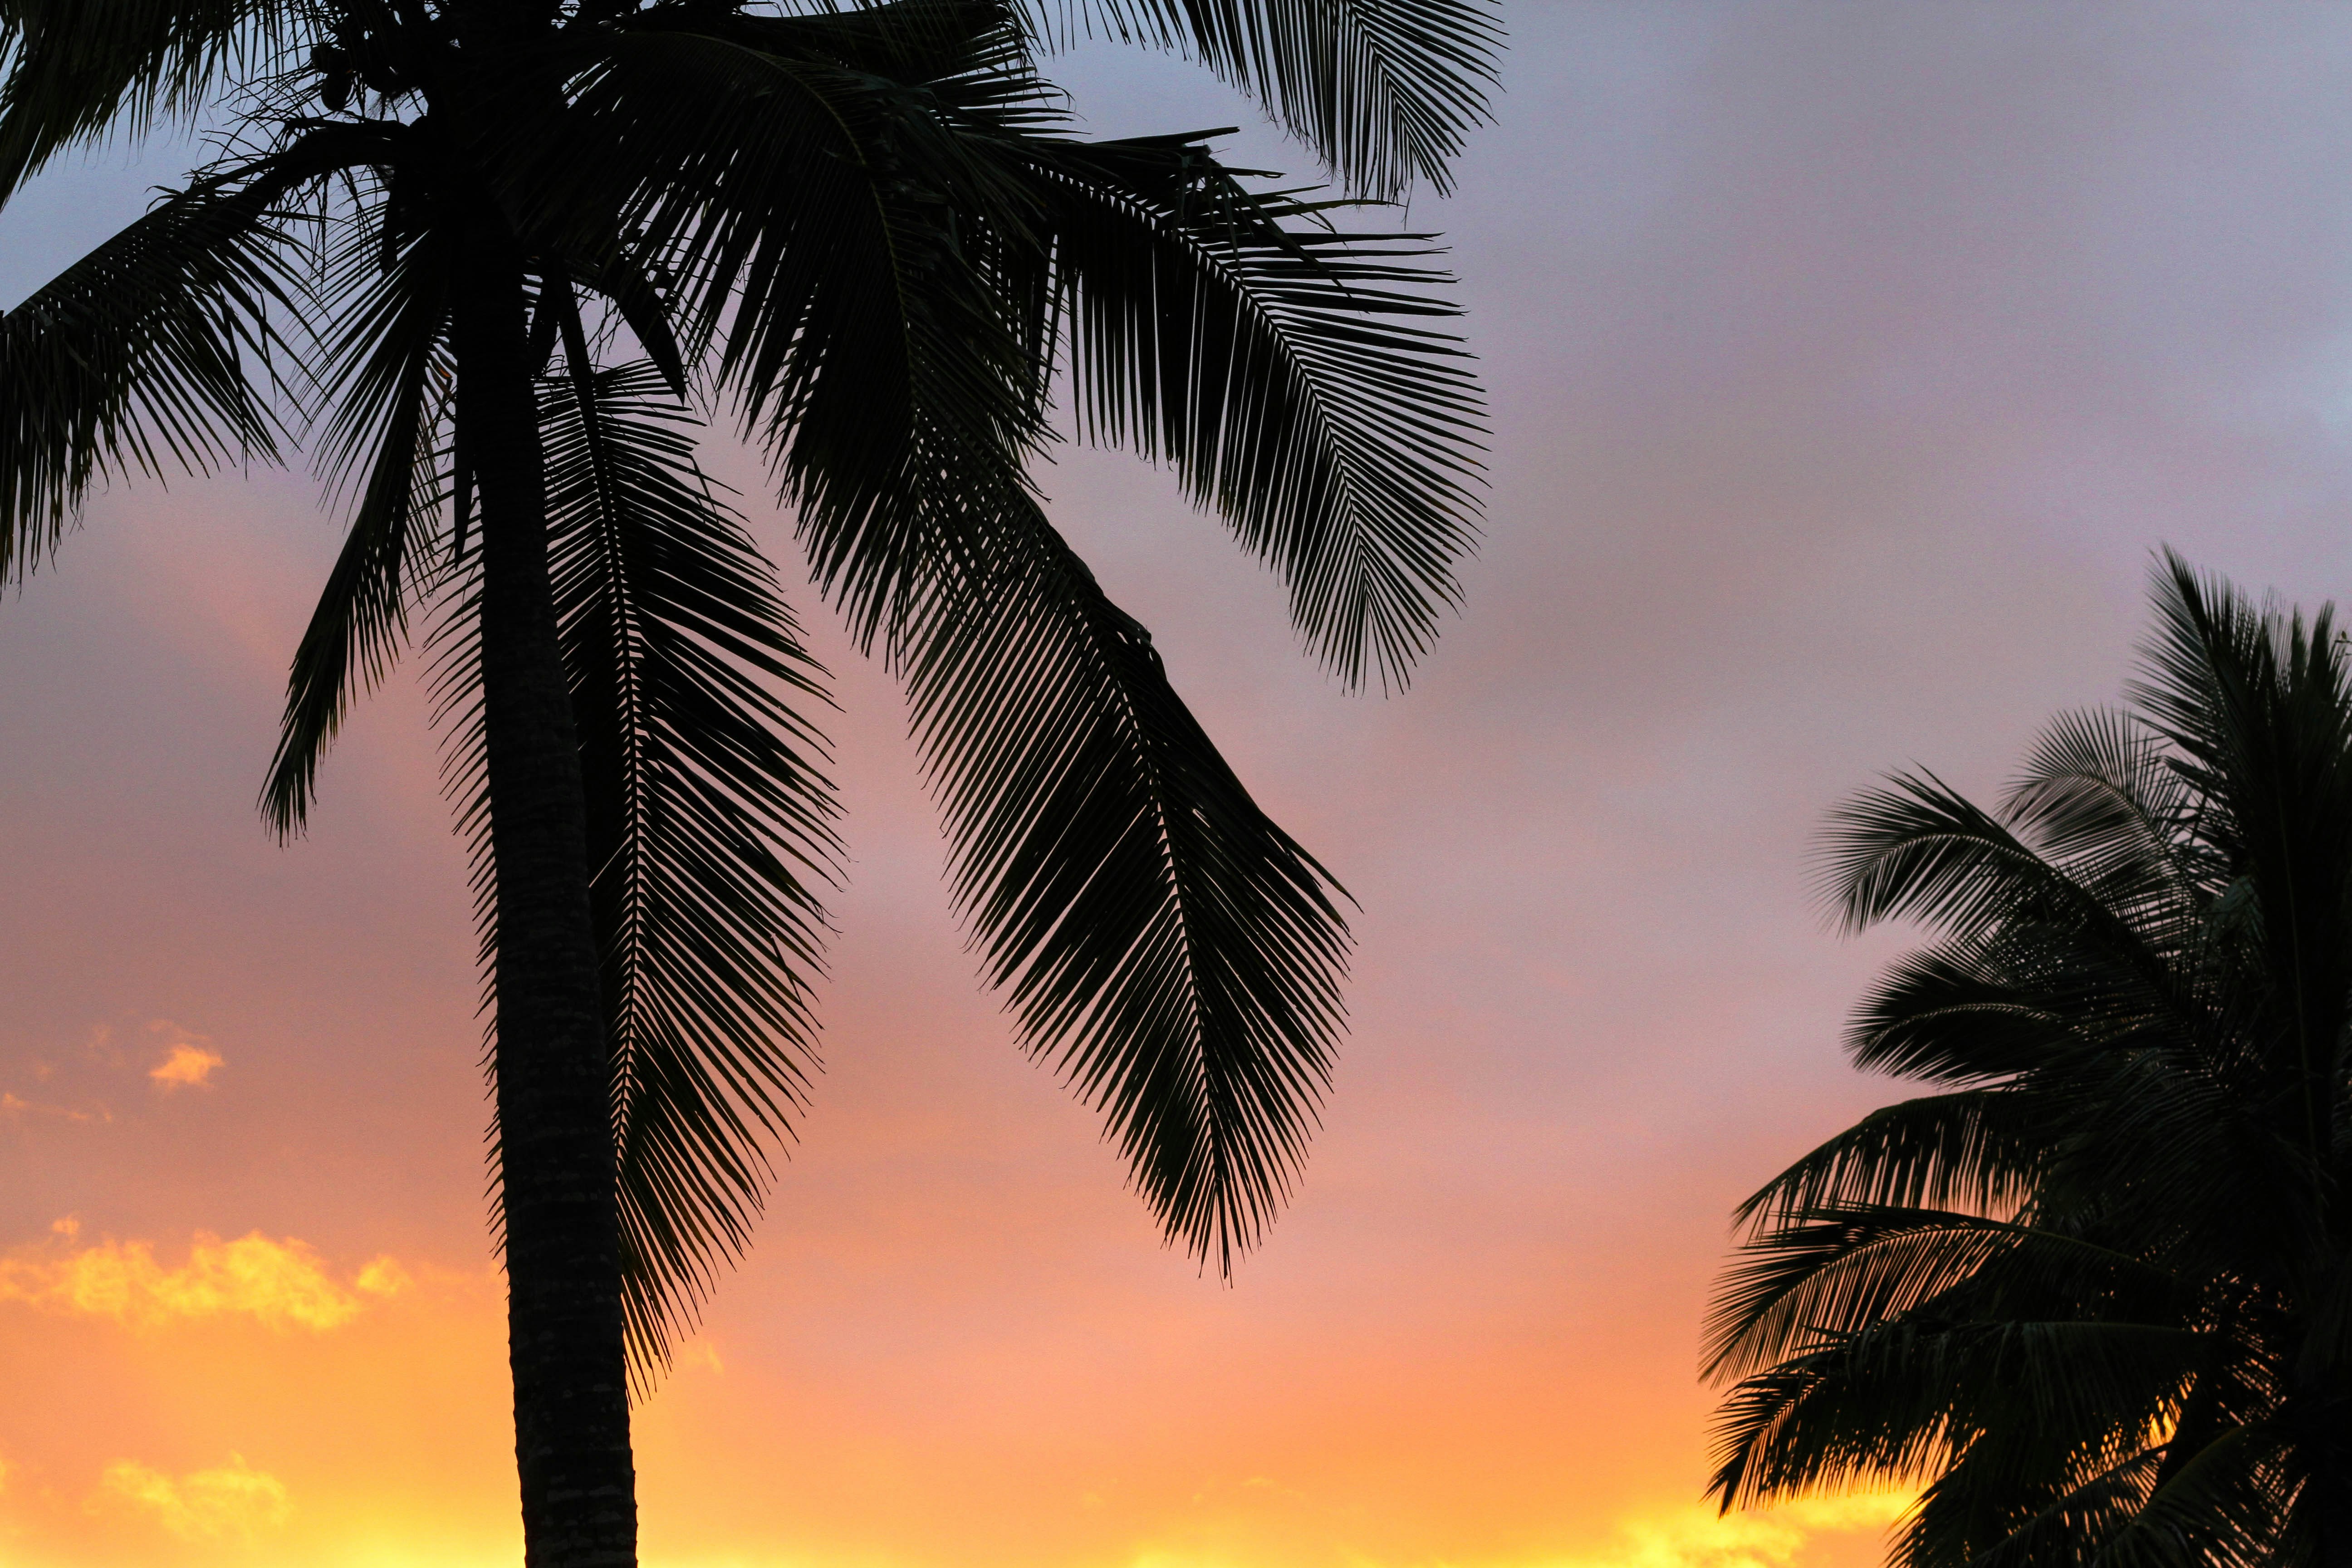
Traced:
POLYGON ((492 1060, 524 1561, 633 1568, 607 1041, 522 268, 496 219, 475 226, 466 256, 452 339, 482 505, 482 731, 499 898, 492 1060))

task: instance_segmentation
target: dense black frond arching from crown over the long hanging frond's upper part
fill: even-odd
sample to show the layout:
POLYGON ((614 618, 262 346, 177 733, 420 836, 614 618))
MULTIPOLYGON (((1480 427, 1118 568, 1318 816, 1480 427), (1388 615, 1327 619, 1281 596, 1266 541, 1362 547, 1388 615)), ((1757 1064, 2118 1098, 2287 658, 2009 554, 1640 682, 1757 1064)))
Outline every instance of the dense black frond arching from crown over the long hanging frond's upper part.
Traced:
POLYGON ((943 101, 1037 94, 1011 42, 967 75, 891 82, 701 33, 621 35, 515 188, 546 233, 633 235, 677 282, 689 357, 767 444, 816 578, 861 642, 985 550, 1042 433, 1035 357, 964 254, 1004 214, 943 101), (985 221, 981 230, 985 233, 985 221), (957 503, 934 503, 962 491, 957 503), (971 503, 985 494, 990 501, 971 503), (946 531, 943 531, 946 529, 946 531))

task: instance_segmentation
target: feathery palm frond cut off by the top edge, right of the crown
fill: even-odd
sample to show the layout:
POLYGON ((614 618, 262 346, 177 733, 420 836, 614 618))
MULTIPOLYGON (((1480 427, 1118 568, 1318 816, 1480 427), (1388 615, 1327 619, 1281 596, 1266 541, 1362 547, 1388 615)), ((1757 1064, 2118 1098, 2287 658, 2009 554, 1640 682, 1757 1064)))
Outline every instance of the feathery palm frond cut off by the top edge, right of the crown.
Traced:
POLYGON ((1181 49, 1265 103, 1352 190, 1454 188, 1503 49, 1484 0, 1025 0, 1040 33, 1181 49))

